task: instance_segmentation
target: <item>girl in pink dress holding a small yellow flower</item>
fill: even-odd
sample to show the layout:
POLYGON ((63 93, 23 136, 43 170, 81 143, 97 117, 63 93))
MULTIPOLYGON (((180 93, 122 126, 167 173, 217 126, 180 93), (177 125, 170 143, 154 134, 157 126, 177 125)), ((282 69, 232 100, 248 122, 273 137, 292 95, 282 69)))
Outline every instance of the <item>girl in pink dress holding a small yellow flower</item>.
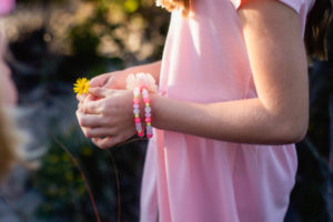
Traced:
POLYGON ((322 53, 330 0, 160 3, 172 10, 162 61, 93 79, 78 97, 84 134, 102 149, 134 134, 133 95, 122 89, 129 73, 150 72, 159 93, 141 221, 283 221, 293 143, 307 128, 305 19, 313 9, 305 41, 322 53))

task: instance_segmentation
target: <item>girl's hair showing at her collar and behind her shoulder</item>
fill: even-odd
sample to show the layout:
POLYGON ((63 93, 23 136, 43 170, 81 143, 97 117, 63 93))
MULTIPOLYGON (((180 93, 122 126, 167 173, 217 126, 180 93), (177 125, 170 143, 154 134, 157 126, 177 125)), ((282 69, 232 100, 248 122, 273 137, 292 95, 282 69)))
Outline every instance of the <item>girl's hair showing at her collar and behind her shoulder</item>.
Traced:
MULTIPOLYGON (((186 16, 195 0, 158 0, 167 10, 181 9, 186 16)), ((201 0, 196 0, 201 1, 201 0)), ((331 0, 316 0, 307 16, 304 42, 309 58, 326 59, 325 34, 332 20, 331 0)))

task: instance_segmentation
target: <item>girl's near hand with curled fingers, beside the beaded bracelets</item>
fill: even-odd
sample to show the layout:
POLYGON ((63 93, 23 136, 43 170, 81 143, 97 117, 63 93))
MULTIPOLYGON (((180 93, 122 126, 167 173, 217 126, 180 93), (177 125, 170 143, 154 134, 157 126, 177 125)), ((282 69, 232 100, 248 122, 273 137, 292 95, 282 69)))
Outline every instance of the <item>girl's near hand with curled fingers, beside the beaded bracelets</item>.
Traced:
POLYGON ((135 133, 132 91, 91 88, 77 117, 87 138, 101 149, 119 144, 135 133), (91 100, 90 97, 100 98, 91 100))

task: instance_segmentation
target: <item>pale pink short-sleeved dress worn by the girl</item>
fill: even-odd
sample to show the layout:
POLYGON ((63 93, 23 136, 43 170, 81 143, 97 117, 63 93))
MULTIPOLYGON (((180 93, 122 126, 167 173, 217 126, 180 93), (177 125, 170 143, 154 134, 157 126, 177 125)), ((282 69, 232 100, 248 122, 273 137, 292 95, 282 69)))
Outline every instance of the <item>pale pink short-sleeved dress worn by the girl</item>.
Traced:
MULTIPOLYGON (((304 32, 312 0, 281 0, 304 32)), ((172 12, 159 92, 211 103, 255 98, 236 9, 240 0, 196 0, 172 12)), ((190 114, 190 113, 189 113, 190 114)), ((155 130, 141 192, 141 222, 283 221, 295 182, 294 144, 253 145, 155 130)))

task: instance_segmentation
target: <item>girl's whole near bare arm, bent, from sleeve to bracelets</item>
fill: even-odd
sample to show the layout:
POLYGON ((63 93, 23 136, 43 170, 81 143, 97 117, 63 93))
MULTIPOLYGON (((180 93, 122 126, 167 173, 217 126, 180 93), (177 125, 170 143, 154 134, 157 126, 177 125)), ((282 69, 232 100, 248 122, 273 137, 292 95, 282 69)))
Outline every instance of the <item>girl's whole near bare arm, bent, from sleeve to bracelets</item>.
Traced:
POLYGON ((212 104, 152 95, 153 125, 218 140, 292 143, 307 128, 307 69, 297 14, 273 0, 239 10, 259 98, 212 104))

